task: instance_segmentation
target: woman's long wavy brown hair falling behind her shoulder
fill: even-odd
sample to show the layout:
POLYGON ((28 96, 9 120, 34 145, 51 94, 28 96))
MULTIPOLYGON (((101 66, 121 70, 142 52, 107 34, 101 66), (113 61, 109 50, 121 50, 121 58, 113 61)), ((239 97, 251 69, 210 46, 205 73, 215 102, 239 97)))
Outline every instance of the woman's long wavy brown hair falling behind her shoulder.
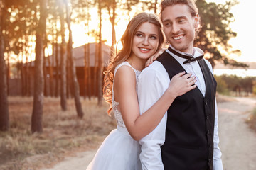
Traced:
POLYGON ((135 33, 139 29, 139 26, 142 23, 153 23, 157 26, 159 32, 159 46, 157 50, 160 50, 161 45, 164 42, 164 34, 161 30, 161 22, 159 18, 153 13, 139 13, 137 16, 134 16, 122 35, 121 42, 122 42, 122 50, 120 50, 117 55, 110 59, 110 64, 107 67, 107 70, 104 72, 104 86, 103 86, 103 97, 107 103, 110 104, 110 109, 107 111, 108 115, 110 115, 110 111, 112 111, 112 86, 113 86, 113 79, 114 79, 114 69, 117 65, 121 64, 122 62, 126 61, 130 55, 132 55, 132 41, 134 38, 135 33))

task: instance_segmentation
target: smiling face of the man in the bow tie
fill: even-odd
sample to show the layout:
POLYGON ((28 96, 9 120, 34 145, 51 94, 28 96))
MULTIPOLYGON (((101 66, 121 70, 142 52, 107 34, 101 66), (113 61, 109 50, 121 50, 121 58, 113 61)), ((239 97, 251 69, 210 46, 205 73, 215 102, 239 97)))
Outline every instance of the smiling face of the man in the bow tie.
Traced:
POLYGON ((171 46, 181 52, 192 53, 198 16, 191 16, 188 6, 176 4, 162 11, 161 20, 171 46))

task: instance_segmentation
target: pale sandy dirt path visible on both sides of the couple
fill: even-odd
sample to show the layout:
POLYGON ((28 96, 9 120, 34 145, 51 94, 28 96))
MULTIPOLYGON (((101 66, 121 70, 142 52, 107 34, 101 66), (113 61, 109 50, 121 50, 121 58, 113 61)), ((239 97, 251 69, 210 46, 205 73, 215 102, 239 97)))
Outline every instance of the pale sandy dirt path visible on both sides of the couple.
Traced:
MULTIPOLYGON (((256 133, 245 123, 256 107, 256 99, 221 98, 218 103, 220 149, 223 152, 225 170, 256 169, 256 133)), ((67 157, 51 169, 41 170, 84 170, 95 154, 95 150, 80 152, 76 157, 67 157)))

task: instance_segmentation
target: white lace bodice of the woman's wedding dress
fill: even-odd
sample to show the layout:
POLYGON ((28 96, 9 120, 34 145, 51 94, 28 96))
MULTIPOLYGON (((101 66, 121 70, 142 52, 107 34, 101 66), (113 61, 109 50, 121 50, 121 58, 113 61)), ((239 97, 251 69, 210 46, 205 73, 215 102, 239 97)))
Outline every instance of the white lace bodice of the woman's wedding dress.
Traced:
MULTIPOLYGON (((119 69, 119 67, 123 66, 123 65, 127 65, 129 67, 132 67, 129 62, 122 62, 121 64, 119 64, 115 69, 114 69, 114 76, 117 72, 117 69, 119 69)), ((132 67, 132 69, 134 70, 135 74, 136 74, 136 92, 138 93, 138 77, 139 74, 141 73, 141 71, 134 69, 132 67)), ((113 80, 114 81, 114 80, 113 80)), ((124 127, 124 120, 122 119, 122 115, 121 112, 118 110, 118 105, 119 103, 117 101, 114 101, 114 84, 113 84, 113 89, 112 89, 112 107, 113 107, 113 112, 114 112, 114 118, 117 120, 117 125, 120 127, 124 127)))

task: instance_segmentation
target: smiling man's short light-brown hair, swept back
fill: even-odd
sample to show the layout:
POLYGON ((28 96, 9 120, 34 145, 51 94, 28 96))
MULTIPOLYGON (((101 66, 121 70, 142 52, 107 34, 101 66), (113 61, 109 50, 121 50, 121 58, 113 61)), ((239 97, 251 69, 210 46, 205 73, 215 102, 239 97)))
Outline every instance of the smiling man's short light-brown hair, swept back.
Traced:
MULTIPOLYGON (((174 6, 176 4, 187 5, 189 10, 191 11, 191 16, 196 16, 196 14, 198 14, 198 8, 196 7, 194 0, 163 0, 161 1, 161 15, 166 7, 174 6)), ((162 17, 161 17, 161 21, 162 21, 162 17)))

